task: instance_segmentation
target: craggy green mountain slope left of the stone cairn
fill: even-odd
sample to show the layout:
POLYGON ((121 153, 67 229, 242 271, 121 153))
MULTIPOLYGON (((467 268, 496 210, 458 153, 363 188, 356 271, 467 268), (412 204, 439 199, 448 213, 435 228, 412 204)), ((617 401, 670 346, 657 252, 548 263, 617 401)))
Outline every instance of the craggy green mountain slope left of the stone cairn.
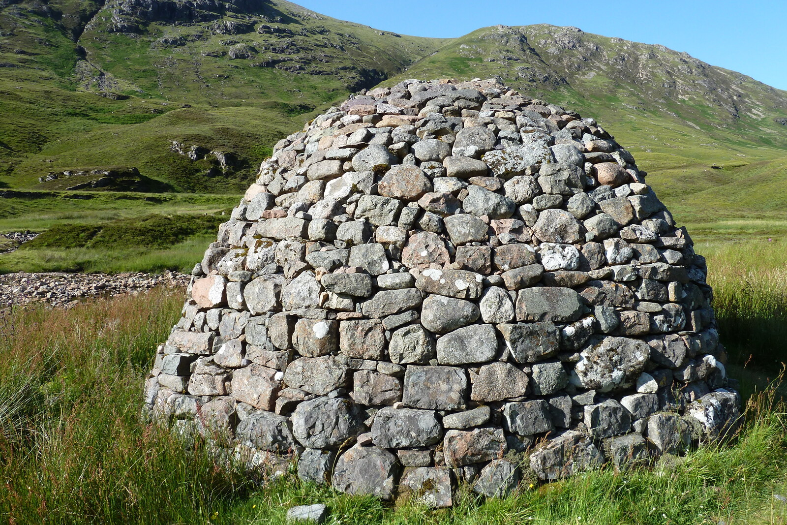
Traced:
POLYGON ((137 168, 170 190, 242 190, 310 114, 440 43, 290 2, 0 2, 0 182, 137 168))

